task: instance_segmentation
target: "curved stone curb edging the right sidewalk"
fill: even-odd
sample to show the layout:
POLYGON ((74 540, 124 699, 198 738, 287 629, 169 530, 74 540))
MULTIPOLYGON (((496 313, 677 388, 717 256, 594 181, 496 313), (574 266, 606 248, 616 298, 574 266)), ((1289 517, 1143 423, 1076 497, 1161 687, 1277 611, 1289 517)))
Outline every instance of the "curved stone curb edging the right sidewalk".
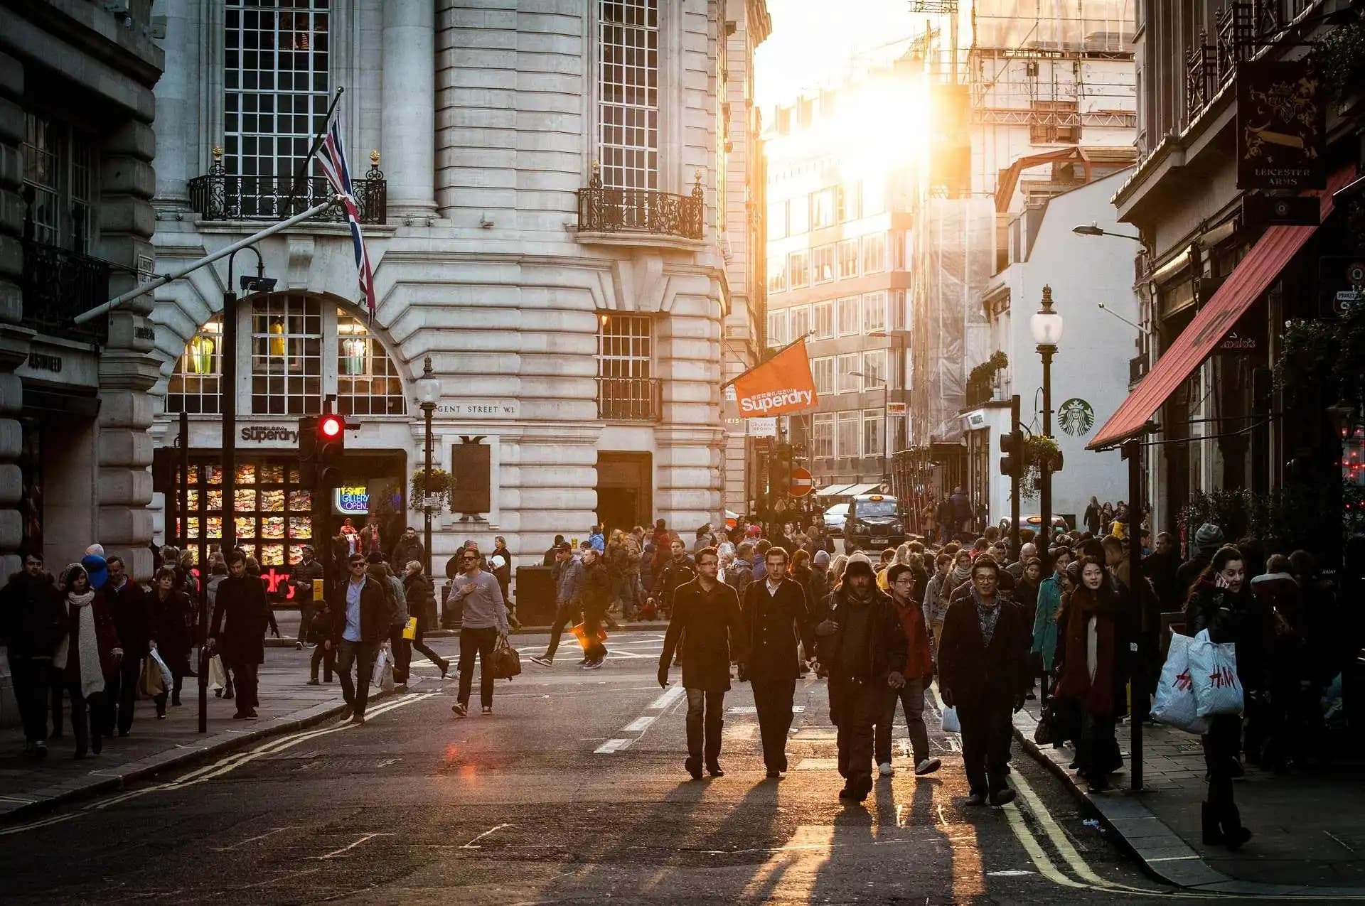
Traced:
MULTIPOLYGON (((1189 891, 1237 896, 1339 896, 1365 898, 1365 887, 1310 887, 1242 881, 1213 869, 1185 839, 1173 831, 1134 795, 1106 793, 1093 795, 1066 768, 1072 749, 1052 749, 1033 741, 1037 719, 1028 711, 1014 715, 1014 738, 1036 761, 1062 780, 1072 797, 1088 809, 1143 868, 1167 884, 1189 891), (1066 752, 1057 755, 1054 752, 1066 752)), ((1254 843, 1254 841, 1253 841, 1254 843)))

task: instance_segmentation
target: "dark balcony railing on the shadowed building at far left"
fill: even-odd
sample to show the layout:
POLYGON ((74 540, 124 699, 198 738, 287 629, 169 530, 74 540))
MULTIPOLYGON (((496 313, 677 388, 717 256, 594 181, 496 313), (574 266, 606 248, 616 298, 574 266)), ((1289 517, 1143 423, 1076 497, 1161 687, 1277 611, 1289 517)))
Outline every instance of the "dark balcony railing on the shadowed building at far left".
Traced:
POLYGON ((75 325, 82 311, 109 302, 109 265, 81 252, 23 242, 23 326, 57 337, 109 341, 109 325, 97 318, 75 325))

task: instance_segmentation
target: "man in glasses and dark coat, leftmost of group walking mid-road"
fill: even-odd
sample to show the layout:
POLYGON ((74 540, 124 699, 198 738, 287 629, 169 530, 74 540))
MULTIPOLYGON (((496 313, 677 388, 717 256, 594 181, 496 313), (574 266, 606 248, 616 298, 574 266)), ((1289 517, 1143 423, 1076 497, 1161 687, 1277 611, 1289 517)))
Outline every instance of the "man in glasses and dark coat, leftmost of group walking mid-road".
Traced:
POLYGON ((696 553, 696 579, 673 592, 673 617, 659 655, 659 685, 669 685, 669 664, 682 644, 682 688, 687 689, 687 771, 702 779, 702 761, 711 776, 721 770, 721 726, 725 693, 730 690, 730 662, 747 656, 740 599, 717 579, 721 555, 714 547, 696 553))

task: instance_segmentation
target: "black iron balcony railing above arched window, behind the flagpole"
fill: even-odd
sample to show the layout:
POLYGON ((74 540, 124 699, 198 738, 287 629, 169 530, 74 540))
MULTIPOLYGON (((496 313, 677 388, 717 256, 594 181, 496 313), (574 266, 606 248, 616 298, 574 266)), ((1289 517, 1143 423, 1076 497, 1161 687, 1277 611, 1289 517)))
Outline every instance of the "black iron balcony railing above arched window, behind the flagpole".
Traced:
MULTIPOLYGON (((370 156, 370 172, 352 183, 362 224, 382 224, 388 209, 388 180, 378 154, 370 156)), ((207 175, 190 180, 190 209, 203 220, 284 220, 332 198, 322 176, 295 183, 292 176, 232 176, 224 171, 218 149, 207 175)), ((311 220, 345 222, 345 211, 333 206, 311 220)))

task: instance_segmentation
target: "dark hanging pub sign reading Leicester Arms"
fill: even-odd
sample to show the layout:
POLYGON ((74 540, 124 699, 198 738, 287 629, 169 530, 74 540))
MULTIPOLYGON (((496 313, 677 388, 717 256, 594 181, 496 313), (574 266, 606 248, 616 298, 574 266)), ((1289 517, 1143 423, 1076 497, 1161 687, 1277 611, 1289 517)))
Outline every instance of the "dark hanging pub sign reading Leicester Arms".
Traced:
POLYGON ((1237 187, 1327 186, 1327 106, 1312 64, 1237 64, 1237 187))

